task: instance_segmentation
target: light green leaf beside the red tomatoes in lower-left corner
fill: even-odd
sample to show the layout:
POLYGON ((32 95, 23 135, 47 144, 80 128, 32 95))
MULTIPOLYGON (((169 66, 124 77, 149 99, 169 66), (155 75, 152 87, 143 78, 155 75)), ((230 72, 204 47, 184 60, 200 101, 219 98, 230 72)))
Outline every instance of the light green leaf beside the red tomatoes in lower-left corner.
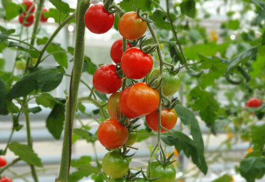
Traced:
POLYGON ((38 157, 36 153, 32 150, 32 148, 28 147, 24 144, 19 144, 17 142, 12 142, 8 145, 10 151, 14 152, 21 160, 24 160, 28 164, 42 167, 41 159, 38 157))

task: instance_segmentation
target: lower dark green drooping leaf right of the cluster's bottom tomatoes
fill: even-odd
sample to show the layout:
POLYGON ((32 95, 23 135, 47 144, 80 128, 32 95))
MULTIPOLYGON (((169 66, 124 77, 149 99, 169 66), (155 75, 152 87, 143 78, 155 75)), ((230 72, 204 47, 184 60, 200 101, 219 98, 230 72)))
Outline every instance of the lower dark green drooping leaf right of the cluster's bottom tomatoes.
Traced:
POLYGON ((191 156, 192 162, 204 173, 207 173, 207 165, 205 162, 203 152, 199 152, 197 145, 187 135, 175 131, 173 134, 162 135, 161 139, 169 146, 175 146, 178 152, 183 152, 187 157, 191 156))

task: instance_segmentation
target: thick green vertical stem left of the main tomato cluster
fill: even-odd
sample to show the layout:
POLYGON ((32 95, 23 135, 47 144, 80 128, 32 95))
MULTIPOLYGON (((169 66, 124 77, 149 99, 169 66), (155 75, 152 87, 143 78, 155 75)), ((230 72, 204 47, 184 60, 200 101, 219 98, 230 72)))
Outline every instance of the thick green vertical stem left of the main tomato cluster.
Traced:
MULTIPOLYGON (((69 167, 70 167, 70 150, 71 150, 71 143, 70 137, 71 128, 70 126, 73 125, 74 121, 74 113, 76 111, 77 106, 77 98, 78 98, 78 90, 79 90, 79 82, 82 74, 83 68, 83 59, 84 59, 84 32, 85 32, 85 25, 84 25, 84 13, 89 6, 89 1, 86 0, 78 0, 77 10, 76 10, 76 22, 77 22, 77 33, 76 33, 76 46, 75 46, 75 55, 74 55, 74 65, 73 65, 73 72, 72 72, 72 83, 71 83, 71 95, 66 103, 66 120, 64 125, 64 139, 63 139, 63 147, 62 147, 62 157, 61 157, 61 166, 59 177, 56 180, 57 182, 67 182, 68 175, 69 175, 69 167), (71 99, 71 100, 70 100, 71 99), (71 102, 71 108, 69 107, 69 103, 71 102), (72 117, 70 119, 69 114, 72 113, 72 117)), ((71 15, 73 16, 73 15, 71 15)), ((69 20, 66 19, 65 21, 69 20)), ((64 22, 65 22, 64 21, 64 22)), ((63 25, 64 22, 61 24, 63 25)), ((61 26, 60 25, 60 26, 61 26)), ((39 60, 38 60, 39 61, 39 60)), ((36 64, 37 65, 37 64, 36 64)))

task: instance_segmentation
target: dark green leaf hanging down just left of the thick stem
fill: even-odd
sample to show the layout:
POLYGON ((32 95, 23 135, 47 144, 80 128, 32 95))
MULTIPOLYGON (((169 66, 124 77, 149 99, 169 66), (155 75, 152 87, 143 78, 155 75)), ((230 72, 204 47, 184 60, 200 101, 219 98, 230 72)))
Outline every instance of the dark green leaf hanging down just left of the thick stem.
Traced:
POLYGON ((62 104, 55 104, 53 110, 46 120, 46 127, 57 140, 61 138, 63 122, 65 119, 65 107, 62 104))

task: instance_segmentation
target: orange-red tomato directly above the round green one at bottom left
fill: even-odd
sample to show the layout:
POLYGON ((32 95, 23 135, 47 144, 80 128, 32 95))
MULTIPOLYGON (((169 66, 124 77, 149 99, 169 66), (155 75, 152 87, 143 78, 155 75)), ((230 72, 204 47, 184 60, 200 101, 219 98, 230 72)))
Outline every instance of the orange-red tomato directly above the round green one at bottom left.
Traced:
POLYGON ((98 139, 108 149, 121 147, 127 141, 128 136, 127 128, 114 118, 103 121, 98 129, 98 139))

